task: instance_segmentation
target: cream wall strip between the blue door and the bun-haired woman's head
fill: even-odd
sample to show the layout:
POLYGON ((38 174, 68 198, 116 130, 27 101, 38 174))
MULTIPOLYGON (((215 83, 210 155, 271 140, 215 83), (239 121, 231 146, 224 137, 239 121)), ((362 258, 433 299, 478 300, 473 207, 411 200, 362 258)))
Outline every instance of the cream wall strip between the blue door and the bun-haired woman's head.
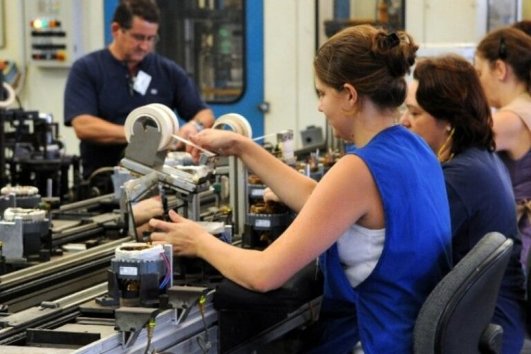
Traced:
POLYGON ((264 116, 266 134, 292 129, 297 147, 299 131, 308 125, 325 127, 317 111, 313 82, 315 7, 308 0, 264 1, 264 96, 270 113, 264 116))

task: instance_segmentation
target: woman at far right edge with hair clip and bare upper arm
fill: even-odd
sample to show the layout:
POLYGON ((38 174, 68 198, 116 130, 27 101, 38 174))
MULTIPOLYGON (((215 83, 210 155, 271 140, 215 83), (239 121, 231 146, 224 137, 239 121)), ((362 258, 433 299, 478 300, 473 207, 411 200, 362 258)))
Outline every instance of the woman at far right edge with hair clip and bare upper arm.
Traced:
POLYGON ((474 66, 496 109, 496 150, 512 180, 526 267, 531 246, 531 37, 516 28, 490 32, 478 45, 474 66))

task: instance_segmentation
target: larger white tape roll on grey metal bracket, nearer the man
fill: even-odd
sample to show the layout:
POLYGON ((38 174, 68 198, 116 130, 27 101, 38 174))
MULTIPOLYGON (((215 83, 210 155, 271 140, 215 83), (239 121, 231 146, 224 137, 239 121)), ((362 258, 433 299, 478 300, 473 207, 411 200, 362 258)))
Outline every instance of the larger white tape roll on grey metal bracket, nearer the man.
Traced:
POLYGON ((157 130, 160 132, 160 142, 158 144, 158 151, 167 149, 171 144, 172 135, 179 131, 179 122, 177 117, 171 109, 164 104, 152 103, 146 106, 140 106, 133 109, 125 119, 124 129, 125 138, 127 142, 131 141, 133 135, 134 123, 138 120, 150 120, 156 124, 157 130))

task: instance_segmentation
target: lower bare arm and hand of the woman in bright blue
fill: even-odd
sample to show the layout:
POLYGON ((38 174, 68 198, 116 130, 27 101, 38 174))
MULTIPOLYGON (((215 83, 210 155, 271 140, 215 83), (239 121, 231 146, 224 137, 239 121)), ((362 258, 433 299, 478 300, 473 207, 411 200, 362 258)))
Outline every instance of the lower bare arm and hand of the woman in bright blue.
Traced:
POLYGON ((278 288, 316 259, 353 223, 382 228, 383 207, 372 175, 357 156, 344 156, 328 171, 307 203, 279 239, 263 251, 223 243, 199 225, 174 213, 174 223, 152 219, 162 232, 153 243, 171 243, 178 255, 198 256, 225 277, 257 291, 278 288))

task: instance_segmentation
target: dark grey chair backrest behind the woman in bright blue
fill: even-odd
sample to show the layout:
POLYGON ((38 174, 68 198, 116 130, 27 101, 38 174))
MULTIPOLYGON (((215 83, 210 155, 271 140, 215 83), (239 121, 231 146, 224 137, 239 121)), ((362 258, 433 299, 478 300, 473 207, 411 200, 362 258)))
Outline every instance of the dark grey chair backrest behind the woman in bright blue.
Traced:
POLYGON ((512 240, 490 232, 438 283, 417 317, 415 354, 484 352, 481 337, 492 320, 511 250, 512 240))

